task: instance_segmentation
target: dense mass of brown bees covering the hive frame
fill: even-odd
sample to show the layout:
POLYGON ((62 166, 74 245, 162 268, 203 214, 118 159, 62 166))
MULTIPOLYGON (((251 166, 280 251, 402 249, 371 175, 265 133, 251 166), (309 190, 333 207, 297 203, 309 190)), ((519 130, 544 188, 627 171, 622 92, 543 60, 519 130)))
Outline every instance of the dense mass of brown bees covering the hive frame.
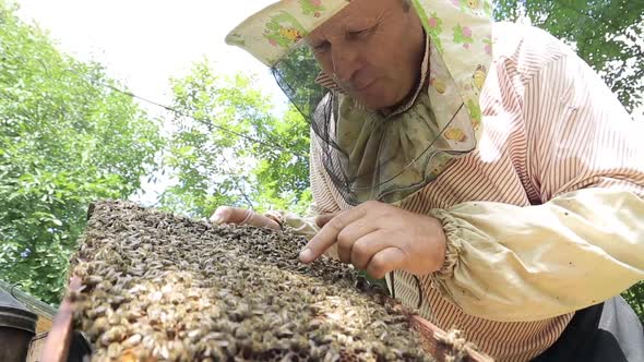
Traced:
POLYGON ((433 361, 404 310, 306 240, 126 202, 92 209, 72 274, 93 361, 433 361))

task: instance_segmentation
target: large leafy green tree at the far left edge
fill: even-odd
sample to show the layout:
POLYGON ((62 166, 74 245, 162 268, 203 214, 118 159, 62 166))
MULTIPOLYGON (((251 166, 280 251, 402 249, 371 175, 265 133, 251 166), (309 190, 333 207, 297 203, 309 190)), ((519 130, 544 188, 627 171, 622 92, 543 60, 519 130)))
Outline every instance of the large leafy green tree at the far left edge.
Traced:
POLYGON ((158 125, 98 64, 61 55, 0 0, 0 276, 57 303, 87 204, 128 197, 158 125), (114 84, 114 83, 112 83, 114 84))

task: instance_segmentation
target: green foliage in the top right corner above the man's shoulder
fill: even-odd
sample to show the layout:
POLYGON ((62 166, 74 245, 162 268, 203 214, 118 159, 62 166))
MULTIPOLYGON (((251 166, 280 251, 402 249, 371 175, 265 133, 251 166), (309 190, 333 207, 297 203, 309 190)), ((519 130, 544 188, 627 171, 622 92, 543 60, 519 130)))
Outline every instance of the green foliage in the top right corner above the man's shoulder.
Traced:
POLYGON ((630 112, 643 105, 644 1, 496 1, 498 20, 526 16, 572 45, 630 112))

